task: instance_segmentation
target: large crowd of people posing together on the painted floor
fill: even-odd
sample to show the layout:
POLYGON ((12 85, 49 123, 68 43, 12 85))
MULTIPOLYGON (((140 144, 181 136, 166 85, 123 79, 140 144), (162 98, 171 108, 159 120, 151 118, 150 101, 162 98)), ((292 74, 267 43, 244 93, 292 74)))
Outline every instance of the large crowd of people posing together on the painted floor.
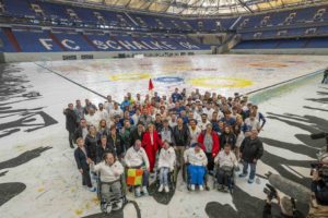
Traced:
POLYGON ((219 187, 225 190, 238 161, 244 166, 239 177, 247 175, 249 166, 248 183, 253 183, 256 164, 263 153, 258 133, 266 119, 247 96, 237 93, 226 98, 175 88, 171 96, 154 93, 143 99, 140 94, 133 98, 127 93, 121 102, 112 96, 97 106, 89 99, 83 106, 77 100, 63 114, 69 144, 72 148, 74 143, 78 145, 74 157, 82 184, 90 191, 95 191, 91 182, 95 172, 103 170, 102 180, 113 182, 127 173, 121 166, 142 170, 136 196, 148 194, 149 175, 156 170, 160 192, 169 192, 167 174, 174 169, 187 173, 191 191, 196 186, 203 190, 204 174, 216 177, 219 187))

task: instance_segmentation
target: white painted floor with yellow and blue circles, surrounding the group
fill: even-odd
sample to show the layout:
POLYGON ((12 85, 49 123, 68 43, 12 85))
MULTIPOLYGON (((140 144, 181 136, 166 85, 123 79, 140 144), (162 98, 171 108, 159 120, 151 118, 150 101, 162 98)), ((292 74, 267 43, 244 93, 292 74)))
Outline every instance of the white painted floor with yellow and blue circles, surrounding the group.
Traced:
MULTIPOLYGON (((231 96, 309 75, 251 95, 268 118, 260 134, 266 154, 258 173, 270 170, 308 185, 309 162, 324 146, 308 134, 328 124, 328 87, 320 85, 320 75, 311 74, 327 66, 327 57, 232 55, 1 65, 0 217, 102 217, 95 194, 81 187, 62 109, 78 98, 97 104, 106 95, 144 95, 149 78, 160 95, 178 86, 231 96)), ((153 196, 136 202, 142 218, 258 217, 266 180, 236 183, 233 195, 213 190, 188 193, 179 178, 168 205, 153 196)), ((137 214, 129 204, 113 217, 137 214)))

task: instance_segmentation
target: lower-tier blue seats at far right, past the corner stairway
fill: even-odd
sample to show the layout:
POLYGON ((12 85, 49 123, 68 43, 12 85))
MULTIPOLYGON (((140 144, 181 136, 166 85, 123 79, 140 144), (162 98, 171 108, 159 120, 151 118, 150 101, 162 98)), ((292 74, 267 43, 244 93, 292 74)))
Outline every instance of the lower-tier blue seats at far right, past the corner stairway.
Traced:
POLYGON ((239 43, 233 49, 301 49, 301 48, 328 48, 328 38, 302 38, 302 39, 271 39, 246 40, 239 43))

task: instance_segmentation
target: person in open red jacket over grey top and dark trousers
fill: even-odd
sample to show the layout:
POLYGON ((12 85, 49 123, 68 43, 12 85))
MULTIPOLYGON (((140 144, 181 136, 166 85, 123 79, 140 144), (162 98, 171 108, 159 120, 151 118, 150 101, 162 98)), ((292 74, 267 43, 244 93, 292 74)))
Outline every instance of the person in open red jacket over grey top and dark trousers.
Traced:
POLYGON ((208 157, 208 170, 213 171, 214 158, 220 150, 220 140, 211 123, 207 124, 206 131, 199 134, 198 142, 208 157))

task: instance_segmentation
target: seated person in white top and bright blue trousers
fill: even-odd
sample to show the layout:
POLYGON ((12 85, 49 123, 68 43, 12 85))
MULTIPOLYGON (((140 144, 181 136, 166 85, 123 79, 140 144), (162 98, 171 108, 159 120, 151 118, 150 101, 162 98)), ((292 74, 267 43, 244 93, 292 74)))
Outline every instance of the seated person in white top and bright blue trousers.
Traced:
POLYGON ((203 191, 208 158, 201 149, 201 144, 194 143, 184 153, 184 159, 187 165, 187 183, 190 185, 190 190, 195 191, 196 185, 198 185, 199 190, 203 191))

